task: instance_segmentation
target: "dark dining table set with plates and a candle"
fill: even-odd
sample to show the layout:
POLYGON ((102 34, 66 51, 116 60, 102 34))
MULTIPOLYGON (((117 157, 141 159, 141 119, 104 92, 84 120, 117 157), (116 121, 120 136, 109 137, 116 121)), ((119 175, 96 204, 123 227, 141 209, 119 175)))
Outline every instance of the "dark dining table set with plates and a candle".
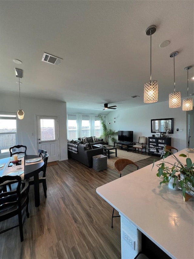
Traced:
MULTIPOLYGON (((30 177, 34 178, 35 207, 38 207, 40 205, 40 192, 39 192, 39 177, 38 177, 38 174, 39 174, 39 172, 43 171, 44 161, 41 158, 41 160, 37 161, 37 162, 32 162, 32 163, 26 162, 26 161, 28 161, 28 159, 33 159, 33 158, 40 158, 40 157, 38 155, 25 155, 24 156, 24 160, 23 160, 24 169, 23 169, 23 171, 24 171, 24 179, 28 179, 30 177)), ((11 161, 12 161, 12 158, 10 158, 10 157, 0 159, 0 165, 3 165, 0 168, 0 177, 10 174, 10 172, 8 170, 8 167, 10 166, 11 161)), ((17 166, 19 166, 19 165, 17 165, 17 166)), ((15 167, 15 169, 17 169, 17 168, 15 167)))

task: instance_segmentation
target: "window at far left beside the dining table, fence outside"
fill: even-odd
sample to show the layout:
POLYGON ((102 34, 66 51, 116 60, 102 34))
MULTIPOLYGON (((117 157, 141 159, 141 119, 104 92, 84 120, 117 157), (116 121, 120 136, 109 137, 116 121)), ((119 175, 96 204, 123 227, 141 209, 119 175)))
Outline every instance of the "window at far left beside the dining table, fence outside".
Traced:
POLYGON ((0 114, 0 153, 16 145, 16 115, 0 114))

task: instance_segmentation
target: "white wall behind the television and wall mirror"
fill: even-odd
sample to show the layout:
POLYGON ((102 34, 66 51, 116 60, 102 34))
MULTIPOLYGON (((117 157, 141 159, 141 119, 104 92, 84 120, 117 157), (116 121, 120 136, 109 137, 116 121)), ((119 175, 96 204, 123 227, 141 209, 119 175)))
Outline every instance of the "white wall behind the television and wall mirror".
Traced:
POLYGON ((108 125, 111 129, 133 131, 133 141, 138 141, 139 136, 151 137, 154 134, 151 133, 151 119, 162 118, 174 118, 174 133, 169 135, 171 145, 179 150, 186 148, 188 145, 186 111, 182 111, 182 107, 170 109, 168 101, 115 110, 106 115, 106 121, 116 121, 108 125), (179 131, 176 131, 177 128, 179 131), (180 128, 183 128, 183 131, 180 131, 180 128))

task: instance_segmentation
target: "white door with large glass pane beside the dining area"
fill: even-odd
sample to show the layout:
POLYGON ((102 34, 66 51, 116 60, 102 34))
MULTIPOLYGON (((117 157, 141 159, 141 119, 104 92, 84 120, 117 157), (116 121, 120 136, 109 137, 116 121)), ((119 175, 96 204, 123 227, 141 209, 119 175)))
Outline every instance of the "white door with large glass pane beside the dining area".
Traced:
POLYGON ((54 116, 37 116, 38 149, 49 154, 48 162, 59 160, 58 121, 54 116))

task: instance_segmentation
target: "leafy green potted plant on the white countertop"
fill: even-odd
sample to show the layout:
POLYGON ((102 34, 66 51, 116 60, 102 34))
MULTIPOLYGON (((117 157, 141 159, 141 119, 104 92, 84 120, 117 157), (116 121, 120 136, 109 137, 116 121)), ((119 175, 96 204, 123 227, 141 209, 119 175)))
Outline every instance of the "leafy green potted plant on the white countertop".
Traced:
MULTIPOLYGON (((172 164, 170 162, 162 162, 161 164, 157 165, 159 167, 156 176, 162 178, 162 181, 160 182, 160 185, 162 183, 169 182, 171 179, 173 179, 172 187, 176 188, 178 185, 180 185, 182 189, 182 194, 185 198, 185 193, 194 196, 194 163, 192 163, 191 158, 189 158, 185 154, 180 154, 180 157, 187 157, 186 158, 186 165, 184 165, 182 162, 180 162, 179 158, 177 158, 172 152, 169 150, 164 154, 161 155, 161 157, 164 159, 168 157, 169 155, 172 155, 172 157, 175 159, 175 163, 172 164), (180 173, 180 181, 177 182, 178 174, 180 173)), ((154 163, 153 163, 154 166, 154 163)), ((152 168, 153 168, 152 166, 152 168)))

